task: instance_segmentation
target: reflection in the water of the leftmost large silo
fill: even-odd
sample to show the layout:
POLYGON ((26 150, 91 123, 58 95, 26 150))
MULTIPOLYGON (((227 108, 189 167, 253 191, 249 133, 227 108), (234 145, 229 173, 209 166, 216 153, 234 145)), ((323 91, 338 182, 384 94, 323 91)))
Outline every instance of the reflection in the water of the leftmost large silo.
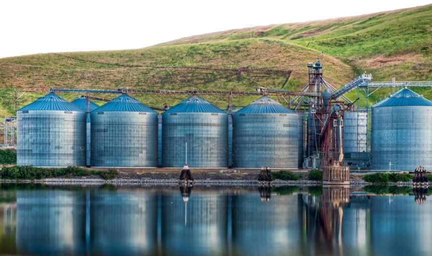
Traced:
POLYGON ((17 191, 17 247, 20 254, 84 254, 85 194, 17 191))

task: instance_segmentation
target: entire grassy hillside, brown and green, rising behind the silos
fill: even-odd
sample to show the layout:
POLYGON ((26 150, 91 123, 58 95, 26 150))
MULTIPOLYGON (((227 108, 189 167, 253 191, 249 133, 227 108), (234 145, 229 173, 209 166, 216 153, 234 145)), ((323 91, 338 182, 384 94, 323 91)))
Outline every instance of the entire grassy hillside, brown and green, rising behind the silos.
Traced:
MULTIPOLYGON (((431 24, 432 5, 428 5, 211 33, 137 50, 4 58, 0 59, 0 116, 13 113, 11 88, 17 87, 299 90, 307 81, 306 63, 321 58, 321 51, 325 78, 337 87, 364 71, 371 72, 375 81, 432 80, 431 24)), ((380 90, 374 97, 388 91, 380 90)), ((420 93, 432 96, 429 91, 420 93)), ((26 94, 19 107, 39 96, 26 94)), ((73 99, 77 94, 62 96, 73 99)), ((184 96, 137 98, 161 106, 174 105, 184 96)), ((221 97, 207 98, 221 108, 227 105, 221 97)), ((253 98, 236 98, 234 104, 243 106, 253 98)))

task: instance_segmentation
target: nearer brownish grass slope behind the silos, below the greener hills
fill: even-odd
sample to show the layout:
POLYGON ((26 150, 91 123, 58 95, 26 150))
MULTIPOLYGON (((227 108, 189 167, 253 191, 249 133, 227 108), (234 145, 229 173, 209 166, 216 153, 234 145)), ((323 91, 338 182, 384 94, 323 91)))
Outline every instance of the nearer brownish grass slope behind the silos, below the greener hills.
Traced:
MULTIPOLYGON (((14 109, 13 89, 17 87, 97 88, 120 87, 170 90, 248 90, 257 86, 298 90, 307 83, 306 61, 316 51, 277 39, 234 40, 218 43, 157 46, 139 50, 42 54, 1 59, 0 116, 14 109), (285 81, 289 75, 289 80, 285 81)), ((349 81, 353 72, 330 58, 328 80, 349 81)), ((19 107, 42 94, 27 93, 19 107)), ((78 94, 64 94, 72 100, 78 94)), ((106 95, 115 97, 116 95, 106 95)), ((149 105, 174 105, 185 96, 155 97, 134 95, 149 105)), ((226 99, 206 97, 221 108, 226 99)), ((234 99, 238 106, 256 97, 234 99)))

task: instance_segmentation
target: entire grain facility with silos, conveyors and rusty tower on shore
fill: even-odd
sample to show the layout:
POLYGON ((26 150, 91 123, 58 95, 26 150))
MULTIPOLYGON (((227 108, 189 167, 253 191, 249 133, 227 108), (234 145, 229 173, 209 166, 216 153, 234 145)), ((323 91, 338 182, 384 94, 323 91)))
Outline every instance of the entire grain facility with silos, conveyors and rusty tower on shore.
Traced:
MULTIPOLYGON (((321 168, 336 162, 351 169, 432 167, 428 158, 432 102, 406 88, 372 111, 368 99, 383 87, 432 87, 432 82, 371 82, 372 75, 362 74, 336 89, 323 79, 319 61, 307 67, 308 84, 298 92, 263 87, 256 91, 16 89, 16 103, 25 92, 51 92, 17 111, 17 162, 53 167, 181 168, 186 162, 192 168, 321 168), (353 90, 357 90, 355 101, 345 96, 353 90), (73 102, 78 108, 54 92, 80 93, 85 98, 73 102), (121 96, 111 100, 92 93, 121 96), (128 93, 191 96, 174 107, 160 108, 146 106, 128 93), (198 95, 227 97, 228 108, 221 110, 198 95), (262 97, 233 111, 233 97, 240 96, 262 97), (88 99, 108 103, 94 109, 88 99), (154 110, 165 112, 158 117, 154 110)), ((8 144, 6 138, 13 141, 13 129, 5 128, 8 144)))

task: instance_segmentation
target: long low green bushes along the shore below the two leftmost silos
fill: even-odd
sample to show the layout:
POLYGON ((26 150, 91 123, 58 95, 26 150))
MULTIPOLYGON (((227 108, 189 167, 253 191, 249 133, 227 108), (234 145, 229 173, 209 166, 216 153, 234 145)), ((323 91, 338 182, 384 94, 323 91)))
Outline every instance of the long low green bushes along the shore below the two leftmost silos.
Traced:
POLYGON ((27 166, 12 166, 3 167, 0 170, 0 179, 44 179, 53 177, 85 177, 90 175, 99 175, 105 180, 114 179, 119 175, 119 172, 112 168, 107 171, 102 170, 86 170, 81 167, 68 166, 66 168, 45 168, 45 167, 34 167, 31 165, 27 166))

